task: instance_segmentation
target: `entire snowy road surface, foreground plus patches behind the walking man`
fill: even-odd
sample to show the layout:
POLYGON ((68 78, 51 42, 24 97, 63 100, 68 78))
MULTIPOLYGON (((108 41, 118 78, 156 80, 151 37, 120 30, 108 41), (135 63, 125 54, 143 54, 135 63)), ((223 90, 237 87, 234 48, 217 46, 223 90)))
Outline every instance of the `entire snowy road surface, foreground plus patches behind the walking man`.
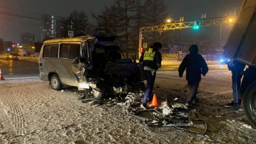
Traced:
MULTIPOLYGON (((176 75, 158 72, 154 91, 159 102, 165 95, 185 102, 186 81, 176 75)), ((243 109, 221 106, 232 96, 226 86, 230 73, 220 76, 209 72, 202 80, 193 107, 208 124, 205 135, 148 127, 127 115, 124 106, 90 106, 77 100, 83 92, 76 88, 54 91, 38 78, 0 81, 0 143, 256 143, 243 109)))

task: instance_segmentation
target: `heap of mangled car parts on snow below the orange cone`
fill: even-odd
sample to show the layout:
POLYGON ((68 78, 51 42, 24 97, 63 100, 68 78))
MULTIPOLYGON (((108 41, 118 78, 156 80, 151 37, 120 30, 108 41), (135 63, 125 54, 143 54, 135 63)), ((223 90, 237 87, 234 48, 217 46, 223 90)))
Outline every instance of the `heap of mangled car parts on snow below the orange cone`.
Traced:
POLYGON ((130 115, 143 120, 150 127, 175 127, 196 134, 205 134, 207 124, 204 120, 198 118, 198 113, 195 110, 188 112, 186 106, 176 103, 172 106, 176 111, 171 111, 171 108, 166 106, 166 103, 163 103, 164 105, 157 109, 133 109, 130 115), (186 109, 187 112, 177 111, 177 109, 186 109), (161 110, 163 113, 159 112, 161 110), (143 113, 150 113, 152 117, 144 116, 143 113))

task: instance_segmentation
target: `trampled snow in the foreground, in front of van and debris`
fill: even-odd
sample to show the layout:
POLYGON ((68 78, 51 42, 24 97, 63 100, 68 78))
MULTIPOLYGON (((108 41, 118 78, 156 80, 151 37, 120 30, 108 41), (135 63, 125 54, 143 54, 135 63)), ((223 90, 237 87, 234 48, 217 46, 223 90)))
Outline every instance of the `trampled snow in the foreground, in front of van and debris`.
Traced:
POLYGON ((0 82, 0 143, 255 143, 241 122, 222 122, 211 136, 147 127, 125 106, 90 106, 77 100, 81 92, 40 79, 13 81, 0 82))

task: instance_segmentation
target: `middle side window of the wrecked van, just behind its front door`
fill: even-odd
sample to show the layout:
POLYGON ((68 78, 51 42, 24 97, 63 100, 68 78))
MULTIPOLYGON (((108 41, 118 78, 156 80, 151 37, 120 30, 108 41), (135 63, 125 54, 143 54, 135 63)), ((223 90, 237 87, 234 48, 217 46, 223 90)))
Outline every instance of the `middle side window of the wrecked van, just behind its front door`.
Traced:
POLYGON ((75 59, 80 56, 80 44, 61 44, 60 58, 75 59))

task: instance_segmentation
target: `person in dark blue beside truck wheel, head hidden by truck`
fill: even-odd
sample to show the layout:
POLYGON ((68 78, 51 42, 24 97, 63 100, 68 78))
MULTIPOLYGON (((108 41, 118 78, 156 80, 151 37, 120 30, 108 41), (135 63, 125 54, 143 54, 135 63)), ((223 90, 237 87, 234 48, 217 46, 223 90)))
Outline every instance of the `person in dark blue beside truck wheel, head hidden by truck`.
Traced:
POLYGON ((232 72, 232 90, 233 90, 233 102, 229 105, 239 105, 241 104, 241 99, 239 97, 241 78, 243 76, 245 65, 239 63, 238 61, 230 61, 228 63, 228 70, 232 72))

